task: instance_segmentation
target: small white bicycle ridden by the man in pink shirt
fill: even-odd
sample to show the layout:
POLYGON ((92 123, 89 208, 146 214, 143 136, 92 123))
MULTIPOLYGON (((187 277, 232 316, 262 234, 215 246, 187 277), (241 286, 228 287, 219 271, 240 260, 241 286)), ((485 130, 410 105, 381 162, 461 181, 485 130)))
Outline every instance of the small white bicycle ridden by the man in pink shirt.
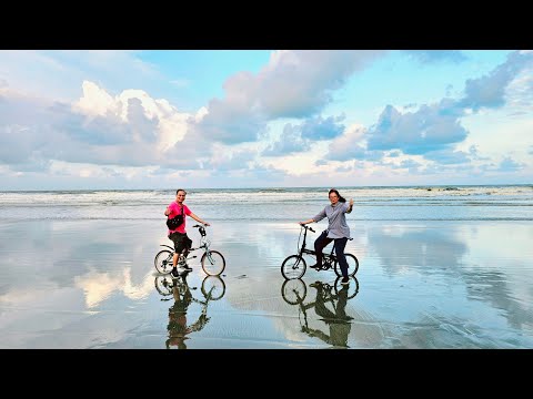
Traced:
MULTIPOLYGON (((178 258, 178 266, 185 266, 187 260, 197 257, 197 256, 189 256, 189 254, 193 250, 203 248, 204 253, 200 259, 200 264, 202 265, 203 272, 209 276, 218 276, 222 274, 222 272, 224 272, 225 269, 224 256, 218 250, 209 249, 211 242, 207 237, 205 226, 194 225, 192 227, 198 228, 200 233, 200 236, 201 236, 200 245, 197 248, 185 249, 182 254, 180 254, 180 257, 178 258)), ((171 250, 168 250, 168 249, 160 250, 153 259, 153 265, 155 266, 155 269, 159 273, 168 274, 172 272, 172 259, 174 256, 174 248, 172 248, 170 245, 164 245, 164 244, 161 244, 160 246, 170 248, 171 250)))

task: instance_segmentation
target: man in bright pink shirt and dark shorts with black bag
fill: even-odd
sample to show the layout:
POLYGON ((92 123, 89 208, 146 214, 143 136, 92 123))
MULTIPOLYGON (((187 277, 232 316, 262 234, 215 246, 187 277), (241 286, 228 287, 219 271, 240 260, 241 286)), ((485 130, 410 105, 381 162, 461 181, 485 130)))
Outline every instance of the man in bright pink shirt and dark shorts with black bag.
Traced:
MULTIPOLYGON (((169 239, 171 239, 174 243, 174 250, 175 250, 174 257, 172 259, 172 272, 171 272, 171 276, 173 278, 178 277, 178 270, 175 266, 178 265, 179 254, 181 254, 181 252, 185 248, 190 249, 192 245, 192 239, 189 238, 185 232, 187 215, 191 216, 194 221, 204 224, 205 226, 210 225, 209 223, 203 222, 200 217, 194 215, 191 212, 191 209, 189 209, 189 207, 185 204, 183 204, 183 201, 185 201, 185 196, 187 196, 187 192, 184 190, 179 188, 175 192, 175 202, 171 203, 164 211, 164 215, 169 216, 169 218, 173 218, 180 215, 182 211, 184 215, 183 223, 173 231, 169 229, 169 234, 168 234, 169 239)), ((187 256, 187 253, 185 253, 185 256, 187 256)), ((192 268, 190 268, 187 265, 183 265, 183 268, 187 270, 192 270, 192 268)))

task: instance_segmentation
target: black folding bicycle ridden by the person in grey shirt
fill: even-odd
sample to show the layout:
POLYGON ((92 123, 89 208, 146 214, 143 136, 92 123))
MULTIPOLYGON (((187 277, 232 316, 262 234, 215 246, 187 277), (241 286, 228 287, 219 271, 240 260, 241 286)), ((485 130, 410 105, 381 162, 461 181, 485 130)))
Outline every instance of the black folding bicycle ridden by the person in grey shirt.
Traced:
MULTIPOLYGON (((283 263, 281 264, 281 274, 283 275, 283 277, 285 279, 301 278, 305 274, 305 270, 308 268, 308 264, 305 263, 305 259, 303 258, 303 255, 316 256, 316 252, 305 248, 305 239, 308 237, 308 229, 313 232, 313 233, 316 233, 316 232, 312 227, 305 226, 305 225, 301 225, 300 228, 301 228, 300 229, 300 237, 302 235, 302 229, 304 231, 303 244, 302 244, 301 248, 299 249, 296 255, 288 256, 283 260, 283 263)), ((300 237, 298 238, 299 242, 300 242, 300 237)), ((353 239, 353 238, 350 238, 350 239, 353 239)), ((335 249, 335 247, 332 246, 330 254, 322 253, 322 259, 323 259, 322 265, 316 270, 318 272, 319 270, 329 270, 330 268, 333 267, 333 269, 335 270, 335 274, 341 277, 342 273, 341 273, 341 268, 339 266, 339 262, 336 259, 336 255, 333 254, 334 249, 335 249)), ((355 273, 358 273, 359 260, 355 257, 355 255, 345 254, 345 256, 346 256, 346 263, 348 263, 348 275, 350 277, 352 277, 352 276, 355 275, 355 273)))

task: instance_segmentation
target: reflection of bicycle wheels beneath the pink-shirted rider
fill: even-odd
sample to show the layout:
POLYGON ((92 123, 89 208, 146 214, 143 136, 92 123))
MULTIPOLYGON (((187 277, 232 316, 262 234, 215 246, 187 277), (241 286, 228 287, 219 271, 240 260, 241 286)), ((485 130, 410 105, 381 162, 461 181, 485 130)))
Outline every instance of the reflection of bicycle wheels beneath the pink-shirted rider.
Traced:
MULTIPOLYGON (((173 288, 175 286, 179 288, 180 293, 185 293, 185 289, 190 290, 185 279, 183 278, 183 276, 188 273, 189 272, 185 272, 174 279, 169 275, 155 276, 155 289, 164 297, 161 300, 172 299, 173 288)), ((225 294, 225 283, 220 276, 207 276, 202 280, 201 291, 205 299, 209 297, 209 300, 219 300, 225 294)))

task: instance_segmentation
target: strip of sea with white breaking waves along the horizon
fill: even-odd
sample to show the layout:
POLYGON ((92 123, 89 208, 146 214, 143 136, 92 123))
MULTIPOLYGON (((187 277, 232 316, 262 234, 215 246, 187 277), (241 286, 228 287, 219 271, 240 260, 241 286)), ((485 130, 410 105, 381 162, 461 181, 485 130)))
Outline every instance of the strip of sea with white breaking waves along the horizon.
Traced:
MULTIPOLYGON (((330 187, 193 188, 207 221, 300 221, 329 204, 330 187)), ((335 187, 351 221, 532 221, 533 186, 335 187)), ((162 219, 175 190, 0 192, 0 219, 162 219)))

